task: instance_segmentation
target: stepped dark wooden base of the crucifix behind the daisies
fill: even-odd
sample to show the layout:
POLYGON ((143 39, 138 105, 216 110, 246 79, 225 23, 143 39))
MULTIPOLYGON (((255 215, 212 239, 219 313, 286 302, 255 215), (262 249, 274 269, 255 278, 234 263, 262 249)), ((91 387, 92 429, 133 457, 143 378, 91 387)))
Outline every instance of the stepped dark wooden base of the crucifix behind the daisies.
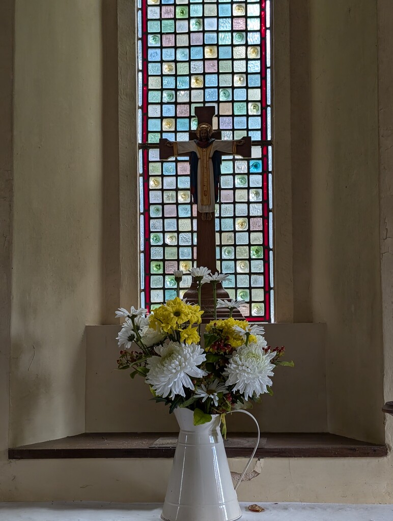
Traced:
MULTIPOLYGON (((217 299, 230 300, 228 292, 223 288, 221 282, 216 286, 217 299)), ((192 282, 190 288, 186 291, 183 299, 187 300, 189 304, 198 304, 198 286, 196 282, 192 282)), ((212 284, 203 284, 201 288, 201 307, 204 311, 202 315, 202 324, 207 324, 214 319, 214 300, 213 300, 213 286, 212 284)), ((217 307, 217 319, 224 320, 229 317, 229 309, 226 307, 217 307)), ((243 315, 239 309, 235 308, 232 317, 237 320, 244 320, 243 315)))

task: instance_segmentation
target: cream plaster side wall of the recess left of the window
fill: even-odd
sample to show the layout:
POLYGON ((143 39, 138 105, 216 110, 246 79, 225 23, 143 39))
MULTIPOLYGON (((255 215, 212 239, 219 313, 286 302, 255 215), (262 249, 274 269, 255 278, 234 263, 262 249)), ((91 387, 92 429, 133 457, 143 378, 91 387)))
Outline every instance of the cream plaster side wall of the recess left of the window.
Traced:
POLYGON ((99 320, 97 0, 17 0, 10 444, 84 430, 84 326, 99 320))

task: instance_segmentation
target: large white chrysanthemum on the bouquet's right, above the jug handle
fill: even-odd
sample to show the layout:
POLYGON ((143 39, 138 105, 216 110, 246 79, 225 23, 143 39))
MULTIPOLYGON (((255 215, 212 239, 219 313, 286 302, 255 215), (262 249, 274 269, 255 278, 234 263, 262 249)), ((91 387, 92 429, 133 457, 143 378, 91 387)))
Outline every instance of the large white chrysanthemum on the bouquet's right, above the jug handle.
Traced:
POLYGON ((267 392, 267 386, 272 385, 274 364, 271 359, 275 353, 263 352, 256 344, 241 346, 229 361, 224 375, 228 376, 226 386, 235 386, 234 391, 240 391, 244 400, 255 393, 255 397, 267 392))

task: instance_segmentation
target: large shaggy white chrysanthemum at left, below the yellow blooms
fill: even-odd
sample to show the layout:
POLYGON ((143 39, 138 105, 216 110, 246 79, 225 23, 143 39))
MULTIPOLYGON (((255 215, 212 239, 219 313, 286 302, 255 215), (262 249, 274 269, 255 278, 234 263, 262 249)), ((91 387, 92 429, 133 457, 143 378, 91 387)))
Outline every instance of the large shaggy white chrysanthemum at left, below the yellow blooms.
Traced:
POLYGON ((191 381, 207 373, 198 366, 205 361, 206 355, 197 344, 169 342, 155 348, 159 356, 152 356, 147 362, 149 369, 146 382, 150 383, 158 396, 174 399, 176 394, 186 396, 184 388, 194 389, 191 381))

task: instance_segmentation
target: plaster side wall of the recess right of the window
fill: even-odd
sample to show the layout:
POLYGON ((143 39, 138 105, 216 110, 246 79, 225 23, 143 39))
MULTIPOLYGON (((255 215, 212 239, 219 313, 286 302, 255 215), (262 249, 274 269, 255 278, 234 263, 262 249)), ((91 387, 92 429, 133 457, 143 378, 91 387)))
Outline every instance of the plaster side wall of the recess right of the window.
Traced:
POLYGON ((328 427, 383 442, 377 4, 310 0, 310 27, 312 306, 327 324, 328 427))

